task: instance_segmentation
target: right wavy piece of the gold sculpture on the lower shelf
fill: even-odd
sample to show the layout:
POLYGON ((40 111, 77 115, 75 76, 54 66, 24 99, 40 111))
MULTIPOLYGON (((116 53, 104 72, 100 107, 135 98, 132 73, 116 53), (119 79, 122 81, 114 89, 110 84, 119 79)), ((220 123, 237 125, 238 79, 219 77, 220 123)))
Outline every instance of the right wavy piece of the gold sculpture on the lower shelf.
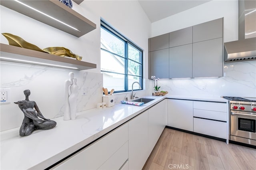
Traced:
POLYGON ((76 60, 82 60, 82 56, 76 55, 70 51, 70 49, 67 49, 65 47, 47 47, 43 49, 44 51, 53 54, 53 55, 58 55, 61 57, 73 57, 76 60))

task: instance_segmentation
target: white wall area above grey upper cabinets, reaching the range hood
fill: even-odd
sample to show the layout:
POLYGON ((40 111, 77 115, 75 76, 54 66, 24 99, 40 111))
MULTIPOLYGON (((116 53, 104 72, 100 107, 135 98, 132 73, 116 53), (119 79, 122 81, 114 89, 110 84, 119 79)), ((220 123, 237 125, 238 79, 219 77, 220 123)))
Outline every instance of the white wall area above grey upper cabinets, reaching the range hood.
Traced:
POLYGON ((151 37, 224 17, 224 42, 238 40, 238 0, 212 0, 152 23, 151 37))

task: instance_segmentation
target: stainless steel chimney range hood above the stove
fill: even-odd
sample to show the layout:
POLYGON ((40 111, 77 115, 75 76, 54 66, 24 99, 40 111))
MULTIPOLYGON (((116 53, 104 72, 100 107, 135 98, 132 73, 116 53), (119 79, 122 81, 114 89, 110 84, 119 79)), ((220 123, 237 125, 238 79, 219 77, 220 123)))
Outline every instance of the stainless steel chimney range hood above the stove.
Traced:
POLYGON ((256 1, 238 1, 238 41, 224 43, 224 62, 256 60, 256 1))

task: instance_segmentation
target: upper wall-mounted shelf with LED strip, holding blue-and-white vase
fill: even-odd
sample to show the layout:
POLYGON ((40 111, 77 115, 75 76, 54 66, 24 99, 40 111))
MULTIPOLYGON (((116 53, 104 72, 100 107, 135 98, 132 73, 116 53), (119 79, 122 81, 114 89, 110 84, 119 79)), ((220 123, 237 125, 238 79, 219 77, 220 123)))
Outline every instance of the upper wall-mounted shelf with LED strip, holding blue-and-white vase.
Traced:
POLYGON ((0 4, 76 37, 81 37, 84 34, 96 29, 96 24, 72 10, 65 4, 62 4, 58 0, 19 0, 18 2, 14 0, 1 0, 0 4), (58 22, 40 12, 37 12, 36 10, 22 5, 19 2, 39 10, 40 12, 43 12, 44 14, 47 14, 48 16, 51 16, 65 24, 68 24, 77 30, 70 28, 69 26, 66 26, 65 24, 62 24, 61 22, 58 22))

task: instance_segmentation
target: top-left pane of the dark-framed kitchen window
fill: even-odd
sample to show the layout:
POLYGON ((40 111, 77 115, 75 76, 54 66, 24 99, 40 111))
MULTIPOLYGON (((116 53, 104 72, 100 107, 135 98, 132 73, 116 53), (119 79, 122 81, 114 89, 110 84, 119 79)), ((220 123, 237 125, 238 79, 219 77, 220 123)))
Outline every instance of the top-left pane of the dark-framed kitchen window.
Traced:
POLYGON ((100 47, 106 49, 112 53, 118 54, 124 57, 124 41, 120 40, 110 32, 107 32, 105 29, 100 29, 100 47))

